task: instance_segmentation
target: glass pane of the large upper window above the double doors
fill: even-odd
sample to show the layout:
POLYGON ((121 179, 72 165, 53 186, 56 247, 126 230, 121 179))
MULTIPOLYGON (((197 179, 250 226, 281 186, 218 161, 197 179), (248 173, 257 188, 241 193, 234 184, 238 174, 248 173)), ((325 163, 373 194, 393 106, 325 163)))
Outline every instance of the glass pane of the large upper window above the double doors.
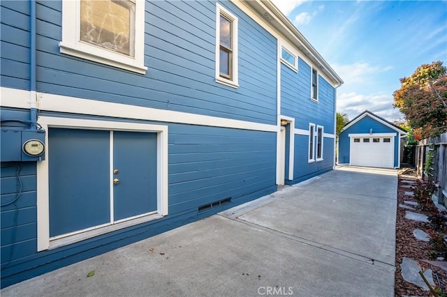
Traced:
POLYGON ((135 56, 135 3, 81 1, 80 40, 135 56))

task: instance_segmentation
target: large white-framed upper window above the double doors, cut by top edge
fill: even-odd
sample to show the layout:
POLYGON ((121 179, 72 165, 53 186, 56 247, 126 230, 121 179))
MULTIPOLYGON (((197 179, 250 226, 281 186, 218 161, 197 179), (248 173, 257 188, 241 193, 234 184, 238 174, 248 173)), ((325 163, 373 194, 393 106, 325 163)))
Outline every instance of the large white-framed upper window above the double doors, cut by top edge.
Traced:
POLYGON ((145 74, 145 1, 62 2, 61 53, 145 74))

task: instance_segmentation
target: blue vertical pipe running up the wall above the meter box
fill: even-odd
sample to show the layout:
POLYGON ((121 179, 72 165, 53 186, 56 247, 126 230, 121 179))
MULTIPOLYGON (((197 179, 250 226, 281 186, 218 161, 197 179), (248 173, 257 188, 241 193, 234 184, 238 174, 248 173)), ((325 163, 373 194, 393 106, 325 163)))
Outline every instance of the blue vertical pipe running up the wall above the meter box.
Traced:
POLYGON ((37 123, 37 104, 36 104, 36 1, 30 0, 30 43, 29 43, 29 106, 31 130, 36 130, 37 123))

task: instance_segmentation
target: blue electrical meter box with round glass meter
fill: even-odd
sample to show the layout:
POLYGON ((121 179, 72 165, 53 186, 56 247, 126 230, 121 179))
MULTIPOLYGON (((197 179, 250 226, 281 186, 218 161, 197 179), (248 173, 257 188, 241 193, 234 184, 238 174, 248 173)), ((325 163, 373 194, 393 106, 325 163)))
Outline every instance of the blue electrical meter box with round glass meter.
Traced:
POLYGON ((1 162, 45 160, 45 130, 1 128, 1 162))

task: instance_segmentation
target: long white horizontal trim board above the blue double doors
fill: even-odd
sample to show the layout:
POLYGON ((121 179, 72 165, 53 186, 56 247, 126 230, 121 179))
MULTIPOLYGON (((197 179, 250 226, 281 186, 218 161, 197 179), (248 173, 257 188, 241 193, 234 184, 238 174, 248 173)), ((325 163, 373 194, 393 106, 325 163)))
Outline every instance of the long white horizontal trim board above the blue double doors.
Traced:
MULTIPOLYGON (((29 108, 29 91, 1 88, 1 106, 29 108)), ((277 125, 226 119, 218 116, 205 116, 174 112, 166 109, 126 105, 70 96, 38 93, 38 108, 48 112, 68 112, 92 116, 111 116, 121 119, 140 119, 189 125, 207 125, 220 128, 235 128, 265 132, 278 132, 277 125)))

